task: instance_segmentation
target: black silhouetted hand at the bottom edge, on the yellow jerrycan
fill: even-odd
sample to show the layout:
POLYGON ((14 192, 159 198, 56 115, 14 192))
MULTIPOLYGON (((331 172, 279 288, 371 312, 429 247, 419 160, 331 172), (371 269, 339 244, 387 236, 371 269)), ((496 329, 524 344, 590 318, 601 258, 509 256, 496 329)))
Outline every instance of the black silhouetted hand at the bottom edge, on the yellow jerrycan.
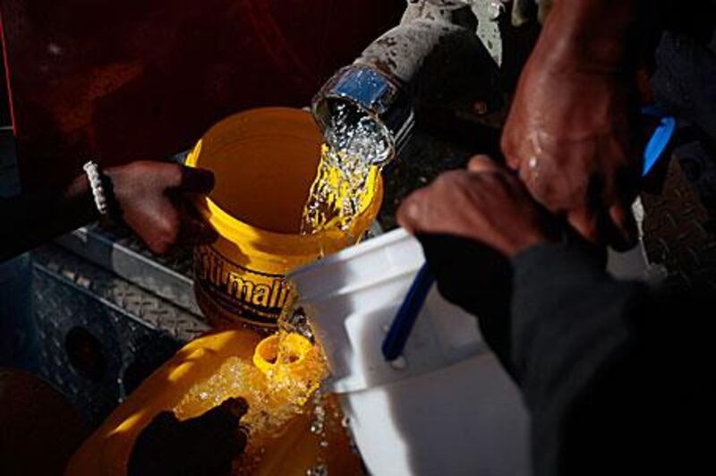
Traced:
POLYGON ((132 448, 129 476, 224 476, 243 453, 246 431, 239 421, 248 410, 241 398, 230 398, 196 418, 177 420, 161 412, 141 431, 132 448))

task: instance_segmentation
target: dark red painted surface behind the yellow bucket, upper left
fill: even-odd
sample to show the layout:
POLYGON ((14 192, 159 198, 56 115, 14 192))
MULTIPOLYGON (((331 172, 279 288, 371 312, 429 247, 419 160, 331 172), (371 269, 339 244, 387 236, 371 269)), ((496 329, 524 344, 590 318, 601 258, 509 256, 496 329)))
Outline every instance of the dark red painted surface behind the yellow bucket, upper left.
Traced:
POLYGON ((0 0, 23 185, 189 148, 253 106, 304 106, 402 0, 0 0))

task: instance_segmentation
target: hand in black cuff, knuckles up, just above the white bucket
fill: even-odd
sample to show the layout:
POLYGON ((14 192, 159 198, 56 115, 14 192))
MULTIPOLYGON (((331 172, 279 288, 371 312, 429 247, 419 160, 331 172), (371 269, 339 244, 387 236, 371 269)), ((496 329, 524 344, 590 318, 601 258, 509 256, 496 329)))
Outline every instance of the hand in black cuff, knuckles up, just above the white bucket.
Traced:
POLYGON ((482 242, 508 257, 556 236, 549 215, 490 157, 473 157, 467 170, 441 174, 414 191, 397 220, 413 234, 452 234, 482 242))

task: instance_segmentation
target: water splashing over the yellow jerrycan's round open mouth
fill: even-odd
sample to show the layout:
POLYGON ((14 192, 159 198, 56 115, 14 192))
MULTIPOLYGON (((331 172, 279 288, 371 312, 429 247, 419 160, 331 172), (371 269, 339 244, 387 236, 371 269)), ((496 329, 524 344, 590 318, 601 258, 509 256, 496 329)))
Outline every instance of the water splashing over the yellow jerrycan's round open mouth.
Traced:
MULTIPOLYGON (((314 339, 306 312, 292 302, 279 319, 277 334, 261 341, 256 354, 263 359, 226 359, 209 378, 183 395, 174 408, 176 416, 181 420, 192 418, 227 398, 243 397, 248 412, 241 424, 249 430, 249 441, 241 456, 240 471, 234 472, 243 475, 251 474, 268 455, 264 448, 281 438, 295 417, 303 415, 310 419, 308 431, 316 438, 318 448, 316 459, 304 471, 325 474, 329 453, 340 454, 345 451, 341 447, 352 442, 342 425, 344 416, 337 399, 320 391, 328 376, 328 363, 314 339), (328 441, 335 443, 329 446, 328 441)), ((345 457, 345 453, 342 455, 345 457)))

